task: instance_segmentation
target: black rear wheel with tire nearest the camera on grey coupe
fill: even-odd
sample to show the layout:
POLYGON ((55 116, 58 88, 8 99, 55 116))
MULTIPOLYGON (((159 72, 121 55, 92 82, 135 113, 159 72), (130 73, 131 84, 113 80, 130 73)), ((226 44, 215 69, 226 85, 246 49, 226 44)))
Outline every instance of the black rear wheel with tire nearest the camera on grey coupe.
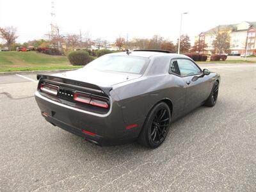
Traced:
POLYGON ((159 102, 148 113, 138 142, 148 148, 159 147, 168 134, 171 122, 171 112, 165 102, 159 102))

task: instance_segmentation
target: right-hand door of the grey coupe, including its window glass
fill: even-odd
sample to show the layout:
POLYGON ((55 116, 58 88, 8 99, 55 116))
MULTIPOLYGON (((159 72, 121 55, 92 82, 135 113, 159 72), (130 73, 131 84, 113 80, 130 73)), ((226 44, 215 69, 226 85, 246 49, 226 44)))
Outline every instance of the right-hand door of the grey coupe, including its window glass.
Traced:
POLYGON ((203 75, 202 70, 193 61, 180 58, 177 59, 180 77, 186 83, 185 113, 200 106, 208 97, 210 83, 203 75))

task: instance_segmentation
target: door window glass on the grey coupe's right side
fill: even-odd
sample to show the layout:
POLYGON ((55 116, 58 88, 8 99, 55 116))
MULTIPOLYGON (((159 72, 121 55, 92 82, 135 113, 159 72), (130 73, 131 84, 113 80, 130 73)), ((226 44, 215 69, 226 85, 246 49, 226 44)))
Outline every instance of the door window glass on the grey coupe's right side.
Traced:
POLYGON ((201 73, 200 68, 198 68, 192 61, 179 59, 177 62, 180 70, 180 76, 182 77, 193 76, 201 73))

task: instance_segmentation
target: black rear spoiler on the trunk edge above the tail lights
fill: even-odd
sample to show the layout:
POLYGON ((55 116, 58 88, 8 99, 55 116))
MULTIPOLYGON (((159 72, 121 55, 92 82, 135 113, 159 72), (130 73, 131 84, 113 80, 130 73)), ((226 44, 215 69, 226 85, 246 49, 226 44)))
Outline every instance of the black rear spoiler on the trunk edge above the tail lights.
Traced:
POLYGON ((95 92, 95 93, 101 93, 102 95, 110 95, 109 92, 111 92, 112 87, 111 86, 97 86, 96 84, 91 84, 91 83, 86 83, 86 82, 82 82, 82 81, 76 81, 76 80, 72 80, 72 79, 66 79, 63 77, 58 77, 58 76, 49 76, 49 75, 45 75, 45 74, 37 74, 36 75, 36 79, 40 80, 40 81, 51 81, 51 82, 55 82, 57 84, 60 85, 67 85, 70 84, 72 86, 74 86, 74 88, 78 87, 78 88, 83 88, 83 90, 87 90, 89 92, 95 92))

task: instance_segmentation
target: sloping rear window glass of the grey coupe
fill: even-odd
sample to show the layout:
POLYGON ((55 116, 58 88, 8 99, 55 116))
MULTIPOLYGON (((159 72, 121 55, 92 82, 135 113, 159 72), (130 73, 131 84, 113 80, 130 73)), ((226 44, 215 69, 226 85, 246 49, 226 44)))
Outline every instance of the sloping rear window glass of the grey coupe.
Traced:
POLYGON ((93 68, 101 71, 143 74, 148 61, 147 58, 142 57, 106 55, 93 60, 84 69, 93 68))

